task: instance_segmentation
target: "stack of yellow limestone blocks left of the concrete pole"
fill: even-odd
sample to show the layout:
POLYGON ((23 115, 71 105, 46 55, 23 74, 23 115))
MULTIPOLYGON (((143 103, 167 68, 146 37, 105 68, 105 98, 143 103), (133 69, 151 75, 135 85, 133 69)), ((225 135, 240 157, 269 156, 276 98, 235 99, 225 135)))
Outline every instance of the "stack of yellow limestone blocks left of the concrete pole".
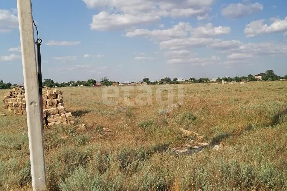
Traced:
POLYGON ((14 114, 26 113, 25 90, 23 87, 15 87, 12 91, 5 91, 3 97, 3 109, 13 110, 14 114))

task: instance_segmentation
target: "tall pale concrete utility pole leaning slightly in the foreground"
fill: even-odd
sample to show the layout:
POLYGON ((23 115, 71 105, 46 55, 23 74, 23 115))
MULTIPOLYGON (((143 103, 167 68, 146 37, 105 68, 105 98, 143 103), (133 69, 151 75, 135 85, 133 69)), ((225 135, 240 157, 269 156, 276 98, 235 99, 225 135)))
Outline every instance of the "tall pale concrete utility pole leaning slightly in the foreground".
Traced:
MULTIPOLYGON (((27 108, 32 186, 46 190, 42 117, 31 0, 17 0, 27 108)), ((42 98, 41 98, 42 99, 42 98)))

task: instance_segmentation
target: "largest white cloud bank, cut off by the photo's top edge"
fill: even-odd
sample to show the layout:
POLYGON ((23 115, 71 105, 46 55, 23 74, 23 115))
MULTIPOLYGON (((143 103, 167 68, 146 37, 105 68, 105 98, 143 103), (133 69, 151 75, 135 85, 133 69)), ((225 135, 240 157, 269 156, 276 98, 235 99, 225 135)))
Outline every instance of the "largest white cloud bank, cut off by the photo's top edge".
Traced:
POLYGON ((164 17, 208 17, 215 0, 83 0, 93 16, 92 30, 128 29, 150 24, 164 17))

